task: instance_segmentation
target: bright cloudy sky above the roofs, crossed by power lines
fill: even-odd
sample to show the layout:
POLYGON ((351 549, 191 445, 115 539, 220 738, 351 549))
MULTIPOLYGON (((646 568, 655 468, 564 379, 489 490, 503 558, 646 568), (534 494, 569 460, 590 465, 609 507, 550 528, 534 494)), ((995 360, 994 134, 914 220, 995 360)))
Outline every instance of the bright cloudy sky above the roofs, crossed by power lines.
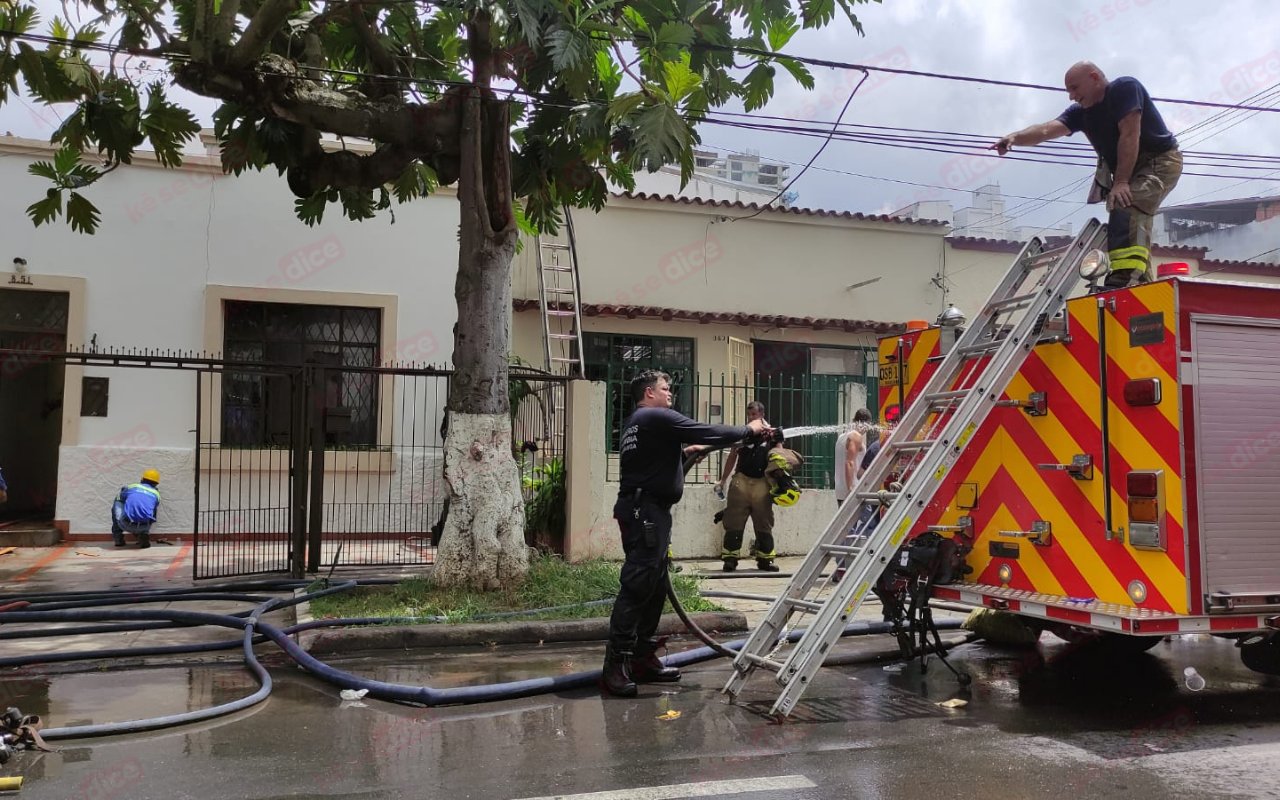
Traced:
MULTIPOLYGON (((49 15, 56 1, 41 0, 49 15)), ((864 35, 842 17, 820 31, 801 31, 788 52, 838 61, 1061 86, 1073 63, 1088 59, 1108 77, 1133 76, 1155 97, 1280 106, 1280 5, 1274 0, 884 0, 859 6, 864 35)), ((780 70, 773 101, 759 111, 831 122, 860 73, 812 68, 817 86, 806 92, 780 70)), ((959 131, 989 136, 1057 116, 1066 93, 957 83, 936 78, 873 73, 844 122, 901 128, 959 131)), ((1175 133, 1217 109, 1158 104, 1175 133)), ((202 101, 207 113, 212 106, 202 101)), ((741 110, 741 109, 735 109, 741 110)), ((36 138, 56 127, 44 108, 0 108, 0 132, 36 138)), ((792 175, 822 140, 703 125, 704 146, 758 151, 790 161, 792 175)), ((1069 141, 1084 142, 1082 134, 1069 141)), ((1184 151, 1280 155, 1280 113, 1236 114, 1216 127, 1183 137, 1184 151), (1229 124, 1238 123, 1238 124, 1229 124)), ((1220 172, 1201 169, 1199 172, 1220 172)), ((1079 224, 1101 215, 1085 206, 1084 188, 1066 191, 1092 168, 1028 164, 833 141, 792 187, 795 205, 841 211, 887 212, 919 200, 969 205, 969 193, 996 183, 1018 224, 1079 224), (855 173, 855 174, 849 174, 855 173), (860 177, 858 177, 860 175, 860 177), (932 184, 929 188, 910 186, 932 184), (1056 202, 1024 198, 1057 197, 1056 202)), ((1257 175, 1280 178, 1276 173, 1257 175)), ((1280 195, 1277 180, 1184 177, 1166 205, 1280 195)), ((963 232, 960 232, 963 233, 963 232)))

